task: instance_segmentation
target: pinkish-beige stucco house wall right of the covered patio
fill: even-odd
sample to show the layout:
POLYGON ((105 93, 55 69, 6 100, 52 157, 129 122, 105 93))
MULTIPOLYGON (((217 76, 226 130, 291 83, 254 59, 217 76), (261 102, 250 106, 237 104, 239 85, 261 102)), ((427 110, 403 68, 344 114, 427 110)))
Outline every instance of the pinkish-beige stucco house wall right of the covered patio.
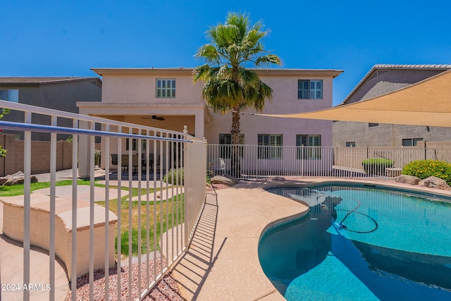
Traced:
MULTIPOLYGON (((261 75, 273 89, 273 98, 266 102, 263 113, 300 113, 326 109, 332 106, 333 78, 312 75, 261 75), (323 99, 297 99, 297 80, 322 79, 323 99)), ((254 113, 253 110, 246 112, 254 113)), ((210 144, 218 144, 219 134, 230 133, 232 113, 214 113, 206 127, 206 139, 210 144)), ((296 135, 321 135, 321 145, 332 145, 332 121, 314 121, 299 118, 271 118, 241 115, 241 133, 245 144, 257 145, 258 134, 283 135, 283 145, 296 145, 296 135)))

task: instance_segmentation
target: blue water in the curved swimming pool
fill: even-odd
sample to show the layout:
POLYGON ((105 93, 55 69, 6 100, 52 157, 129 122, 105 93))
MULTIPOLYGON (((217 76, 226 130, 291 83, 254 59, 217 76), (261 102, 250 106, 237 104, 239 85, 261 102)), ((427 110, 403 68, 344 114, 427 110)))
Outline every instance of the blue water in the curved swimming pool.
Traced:
POLYGON ((259 243, 287 300, 451 300, 449 199, 362 185, 268 191, 310 206, 259 243))

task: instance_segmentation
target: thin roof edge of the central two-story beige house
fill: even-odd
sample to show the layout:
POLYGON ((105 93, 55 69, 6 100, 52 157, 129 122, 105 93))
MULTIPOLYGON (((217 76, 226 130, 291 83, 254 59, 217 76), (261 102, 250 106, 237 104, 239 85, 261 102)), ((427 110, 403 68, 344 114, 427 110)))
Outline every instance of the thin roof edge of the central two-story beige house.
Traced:
MULTIPOLYGON (((340 75, 343 70, 339 69, 285 69, 285 68, 267 68, 267 69, 252 69, 259 73, 271 75, 330 75, 333 78, 340 75)), ((187 73, 191 74, 194 68, 91 68, 98 75, 103 76, 106 73, 187 73)))

